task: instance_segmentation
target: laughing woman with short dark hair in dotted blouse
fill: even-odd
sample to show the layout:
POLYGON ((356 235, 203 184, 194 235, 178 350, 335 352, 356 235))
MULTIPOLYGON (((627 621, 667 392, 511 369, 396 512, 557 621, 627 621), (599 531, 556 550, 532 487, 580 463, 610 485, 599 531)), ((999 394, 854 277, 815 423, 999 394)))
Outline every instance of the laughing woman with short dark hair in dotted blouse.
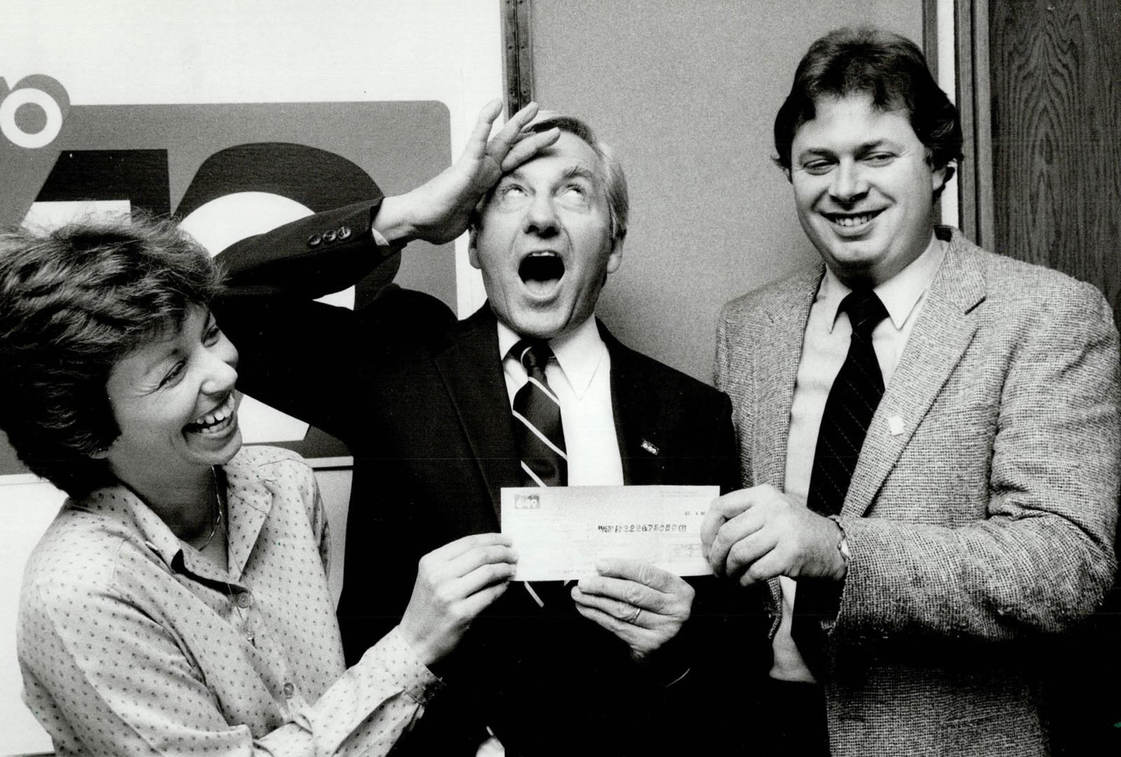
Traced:
POLYGON ((59 754, 386 754, 512 552, 476 534, 426 555, 463 596, 418 580, 346 670, 315 477, 241 449, 221 291, 169 221, 0 233, 0 428, 71 497, 24 574, 24 700, 59 754))

